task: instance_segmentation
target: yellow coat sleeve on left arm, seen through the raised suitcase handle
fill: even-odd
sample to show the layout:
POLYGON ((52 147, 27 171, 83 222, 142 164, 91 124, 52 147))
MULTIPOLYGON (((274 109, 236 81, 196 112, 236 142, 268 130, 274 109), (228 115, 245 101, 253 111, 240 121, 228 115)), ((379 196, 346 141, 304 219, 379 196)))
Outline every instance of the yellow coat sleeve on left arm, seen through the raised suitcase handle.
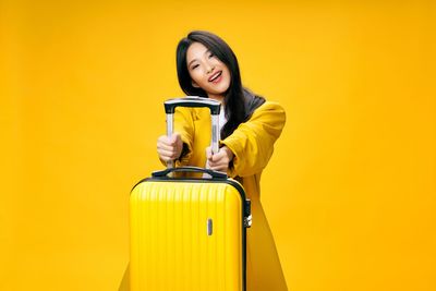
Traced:
MULTIPOLYGON (((192 156, 193 136, 194 136, 194 121, 192 118, 192 110, 190 108, 177 108, 174 112, 173 132, 181 135, 183 142, 183 150, 179 159, 175 160, 175 167, 189 165, 192 156)), ((167 163, 161 160, 164 166, 167 163)))

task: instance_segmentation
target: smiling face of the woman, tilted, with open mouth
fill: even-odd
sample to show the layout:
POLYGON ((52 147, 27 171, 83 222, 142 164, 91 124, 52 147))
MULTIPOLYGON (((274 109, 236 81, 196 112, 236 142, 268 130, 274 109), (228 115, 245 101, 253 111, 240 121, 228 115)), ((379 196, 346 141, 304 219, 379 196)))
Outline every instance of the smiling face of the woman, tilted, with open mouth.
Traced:
POLYGON ((230 86, 230 71, 201 43, 193 43, 186 51, 187 71, 194 87, 204 89, 209 98, 222 98, 230 86))

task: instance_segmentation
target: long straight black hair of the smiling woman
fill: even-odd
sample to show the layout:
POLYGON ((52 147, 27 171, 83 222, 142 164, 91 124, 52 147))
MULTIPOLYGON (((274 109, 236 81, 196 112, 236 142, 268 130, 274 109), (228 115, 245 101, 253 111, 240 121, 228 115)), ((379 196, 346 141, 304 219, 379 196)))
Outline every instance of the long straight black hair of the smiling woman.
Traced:
POLYGON ((225 94, 227 123, 222 126, 221 138, 226 138, 241 124, 250 119, 253 111, 265 102, 261 96, 256 96, 242 86, 238 59, 229 45, 217 35, 204 31, 191 32, 182 38, 177 47, 177 71, 179 84, 186 95, 207 98, 205 90, 192 85, 187 71, 186 51, 193 43, 201 43, 209 49, 230 71, 230 85, 225 94))

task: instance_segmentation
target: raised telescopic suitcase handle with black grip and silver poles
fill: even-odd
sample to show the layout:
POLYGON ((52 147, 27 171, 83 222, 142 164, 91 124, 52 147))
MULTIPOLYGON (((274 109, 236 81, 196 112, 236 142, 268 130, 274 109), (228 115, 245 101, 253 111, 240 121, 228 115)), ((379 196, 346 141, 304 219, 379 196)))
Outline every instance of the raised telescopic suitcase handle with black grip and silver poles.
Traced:
MULTIPOLYGON (((167 113, 167 136, 171 136, 174 129, 174 111, 177 107, 207 107, 211 116, 211 153, 219 150, 219 111, 221 104, 217 100, 198 96, 186 96, 183 98, 169 99, 164 102, 167 113)), ((167 162, 168 168, 174 168, 174 161, 167 162)))

